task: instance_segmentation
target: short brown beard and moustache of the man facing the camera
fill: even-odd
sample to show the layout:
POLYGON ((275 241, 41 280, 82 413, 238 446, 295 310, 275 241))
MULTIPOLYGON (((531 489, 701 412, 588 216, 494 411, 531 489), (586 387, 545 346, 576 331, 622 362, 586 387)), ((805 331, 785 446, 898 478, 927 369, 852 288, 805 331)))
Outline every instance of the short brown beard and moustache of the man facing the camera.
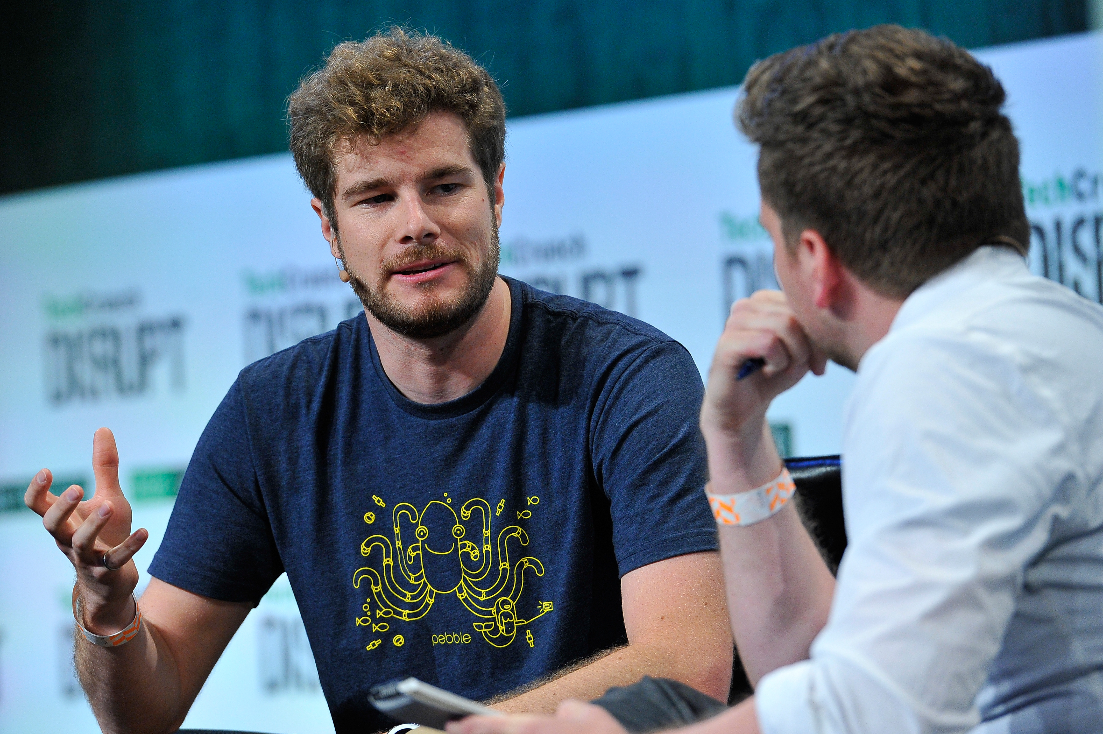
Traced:
POLYGON ((341 265, 349 273, 349 285, 360 298, 360 302, 379 320, 379 323, 410 339, 443 337, 479 315, 483 306, 486 305, 486 299, 490 298, 490 292, 494 288, 494 280, 497 278, 500 247, 497 225, 493 221, 488 244, 486 257, 478 267, 471 265, 470 257, 464 249, 438 243, 413 245, 395 257, 385 260, 381 267, 381 281, 387 277, 386 274, 401 270, 404 266, 436 258, 454 260, 469 274, 467 286, 454 297, 438 296, 436 290, 439 286, 427 283, 417 286, 420 290, 418 302, 409 305, 388 294, 385 286, 373 287, 353 273, 345 262, 344 248, 341 246, 340 235, 338 236, 341 265))

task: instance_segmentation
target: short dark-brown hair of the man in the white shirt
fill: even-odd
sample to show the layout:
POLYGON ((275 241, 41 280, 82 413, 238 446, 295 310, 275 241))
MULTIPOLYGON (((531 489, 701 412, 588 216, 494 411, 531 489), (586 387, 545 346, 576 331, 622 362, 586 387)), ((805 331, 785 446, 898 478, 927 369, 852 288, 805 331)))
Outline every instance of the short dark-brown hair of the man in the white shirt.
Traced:
POLYGON ((907 297, 985 242, 1029 242, 1005 96, 949 40, 878 25, 754 64, 736 117, 786 240, 817 230, 866 285, 907 297))

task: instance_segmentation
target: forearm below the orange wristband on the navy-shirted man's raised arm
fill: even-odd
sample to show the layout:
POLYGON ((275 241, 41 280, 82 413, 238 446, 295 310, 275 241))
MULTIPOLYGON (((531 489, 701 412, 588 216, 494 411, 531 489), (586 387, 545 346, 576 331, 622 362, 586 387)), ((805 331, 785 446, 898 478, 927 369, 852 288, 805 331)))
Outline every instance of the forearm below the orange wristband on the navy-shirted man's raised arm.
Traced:
POLYGON ((129 642, 103 648, 76 630, 75 658, 81 685, 100 728, 115 732, 173 731, 188 712, 180 676, 164 640, 143 621, 129 642))

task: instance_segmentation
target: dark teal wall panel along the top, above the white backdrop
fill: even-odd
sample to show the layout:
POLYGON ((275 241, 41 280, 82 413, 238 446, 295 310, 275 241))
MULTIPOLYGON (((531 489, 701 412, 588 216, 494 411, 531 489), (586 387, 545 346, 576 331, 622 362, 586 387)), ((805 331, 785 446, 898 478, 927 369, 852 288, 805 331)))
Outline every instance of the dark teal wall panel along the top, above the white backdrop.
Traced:
POLYGON ((516 116, 738 84, 756 58, 875 23, 976 47, 1086 15, 1085 0, 20 3, 0 43, 0 192, 283 150, 303 72, 396 22, 481 60, 516 116))

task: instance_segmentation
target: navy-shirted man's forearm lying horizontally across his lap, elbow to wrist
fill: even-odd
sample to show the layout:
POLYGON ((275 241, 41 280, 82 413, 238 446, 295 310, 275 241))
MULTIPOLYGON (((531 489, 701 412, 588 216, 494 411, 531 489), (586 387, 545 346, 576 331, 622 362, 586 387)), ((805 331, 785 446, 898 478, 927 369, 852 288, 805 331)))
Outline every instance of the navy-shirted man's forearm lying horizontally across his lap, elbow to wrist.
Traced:
POLYGON ((494 708, 510 713, 553 713, 566 699, 592 701, 610 688, 631 685, 644 676, 682 681, 725 701, 731 683, 730 640, 686 646, 627 645, 531 691, 495 703, 494 708))

